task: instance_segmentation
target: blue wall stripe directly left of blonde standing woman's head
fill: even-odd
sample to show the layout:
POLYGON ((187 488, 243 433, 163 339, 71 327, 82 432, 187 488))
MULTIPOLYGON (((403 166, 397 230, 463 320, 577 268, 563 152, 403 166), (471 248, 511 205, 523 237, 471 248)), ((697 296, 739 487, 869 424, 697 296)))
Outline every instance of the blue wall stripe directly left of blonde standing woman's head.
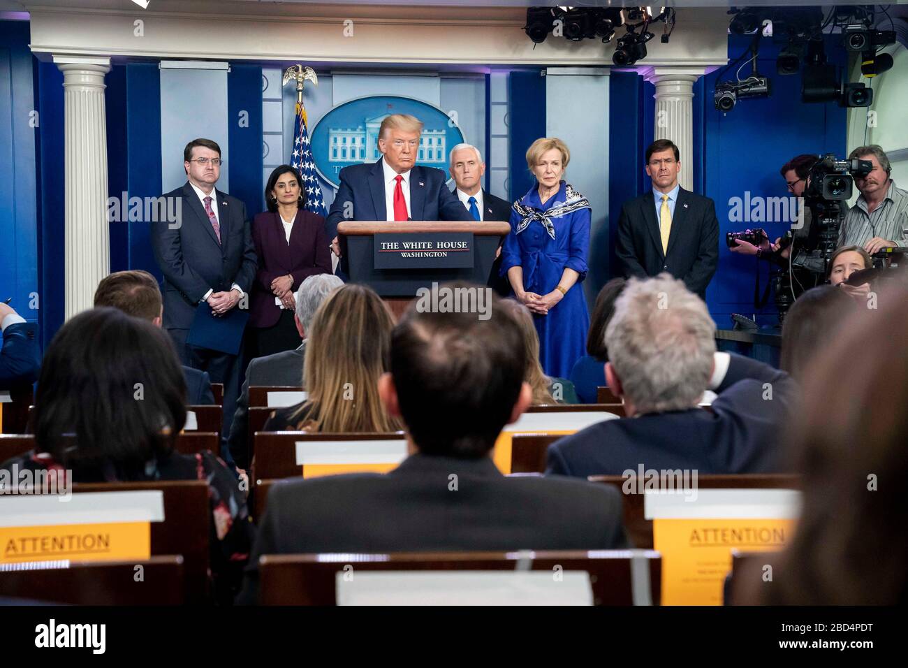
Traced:
POLYGON ((535 183, 527 169, 527 149, 546 136, 546 77, 538 70, 508 76, 508 121, 508 198, 514 202, 535 183))

